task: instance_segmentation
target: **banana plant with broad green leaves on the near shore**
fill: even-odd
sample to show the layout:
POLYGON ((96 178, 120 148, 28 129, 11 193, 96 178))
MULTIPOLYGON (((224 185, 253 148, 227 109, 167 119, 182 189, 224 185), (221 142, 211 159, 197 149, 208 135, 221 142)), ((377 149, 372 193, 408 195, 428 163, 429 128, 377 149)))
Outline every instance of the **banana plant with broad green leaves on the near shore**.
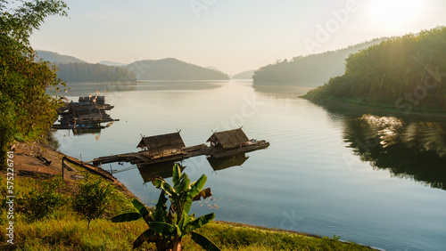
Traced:
POLYGON ((202 189, 207 177, 202 176, 196 181, 190 181, 187 174, 181 174, 178 165, 173 166, 173 186, 164 181, 161 177, 153 179, 153 185, 161 189, 160 198, 154 210, 148 210, 136 198, 132 200, 137 213, 126 213, 111 218, 113 223, 124 223, 135 221, 140 218, 145 220, 149 229, 143 232, 133 243, 133 248, 140 247, 145 242, 154 242, 158 250, 182 249, 181 239, 186 235, 206 250, 220 250, 210 239, 195 232, 202 225, 211 222, 215 217, 213 213, 195 218, 194 214, 189 215, 192 202, 201 198, 208 198, 212 195, 211 189, 202 189), (167 200, 170 206, 167 206, 167 200))

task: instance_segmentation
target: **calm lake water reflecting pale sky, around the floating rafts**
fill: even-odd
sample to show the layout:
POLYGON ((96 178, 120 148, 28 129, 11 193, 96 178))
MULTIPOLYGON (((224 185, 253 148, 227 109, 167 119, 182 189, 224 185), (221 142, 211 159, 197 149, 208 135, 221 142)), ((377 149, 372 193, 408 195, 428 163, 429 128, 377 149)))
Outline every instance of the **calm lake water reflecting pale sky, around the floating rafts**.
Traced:
MULTIPOLYGON (((120 119, 100 132, 55 133, 75 158, 136 151, 141 135, 181 130, 186 146, 243 126, 270 146, 218 163, 180 163, 192 181, 208 176, 212 199, 191 212, 217 220, 340 236, 386 250, 446 249, 446 123, 326 109, 298 96, 305 87, 251 81, 71 84, 68 98, 100 93, 120 119), (234 166, 235 165, 235 166, 234 166)), ((171 167, 104 165, 148 206, 149 182, 171 167), (122 171, 125 170, 125 171, 122 171)), ((171 180, 168 178, 168 182, 171 180)))

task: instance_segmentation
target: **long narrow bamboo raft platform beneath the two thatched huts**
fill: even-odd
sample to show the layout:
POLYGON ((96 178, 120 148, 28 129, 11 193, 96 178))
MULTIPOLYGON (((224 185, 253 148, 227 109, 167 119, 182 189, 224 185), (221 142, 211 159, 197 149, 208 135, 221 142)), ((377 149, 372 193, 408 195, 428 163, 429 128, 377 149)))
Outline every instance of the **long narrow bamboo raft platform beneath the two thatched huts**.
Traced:
POLYGON ((215 147, 209 147, 206 144, 200 144, 191 147, 184 147, 181 150, 166 150, 161 154, 149 156, 144 150, 138 152, 129 152, 118 155, 105 156, 95 158, 89 163, 94 166, 101 166, 114 162, 129 162, 131 164, 157 164, 169 161, 180 161, 186 158, 205 155, 211 158, 223 158, 239 153, 250 152, 253 150, 260 150, 268 148, 269 142, 265 141, 250 141, 245 146, 231 150, 222 150, 215 147))

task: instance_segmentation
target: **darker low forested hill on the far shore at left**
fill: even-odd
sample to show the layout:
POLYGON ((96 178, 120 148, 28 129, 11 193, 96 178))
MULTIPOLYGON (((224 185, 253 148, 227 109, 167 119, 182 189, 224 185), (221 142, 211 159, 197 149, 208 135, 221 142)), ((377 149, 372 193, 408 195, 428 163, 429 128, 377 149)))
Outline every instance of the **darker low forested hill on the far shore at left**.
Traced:
POLYGON ((67 82, 107 82, 136 81, 136 76, 128 69, 91 63, 56 64, 57 77, 67 82))

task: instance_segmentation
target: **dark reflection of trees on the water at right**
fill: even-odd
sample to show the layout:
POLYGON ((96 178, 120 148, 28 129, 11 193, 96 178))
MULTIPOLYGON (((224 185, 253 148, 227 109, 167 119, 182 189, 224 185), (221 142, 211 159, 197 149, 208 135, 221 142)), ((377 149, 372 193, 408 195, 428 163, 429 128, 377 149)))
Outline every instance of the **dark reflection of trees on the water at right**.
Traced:
POLYGON ((347 119, 344 139, 360 156, 379 169, 446 189, 446 125, 408 122, 396 117, 347 119))

